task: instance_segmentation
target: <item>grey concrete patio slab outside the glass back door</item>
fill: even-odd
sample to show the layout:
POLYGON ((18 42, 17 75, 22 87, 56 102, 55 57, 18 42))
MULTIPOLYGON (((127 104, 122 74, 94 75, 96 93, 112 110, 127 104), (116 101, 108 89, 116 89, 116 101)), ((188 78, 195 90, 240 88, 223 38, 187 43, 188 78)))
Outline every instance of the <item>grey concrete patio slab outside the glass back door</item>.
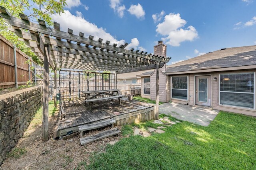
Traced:
POLYGON ((178 103, 165 103, 159 106, 159 113, 171 115, 176 119, 189 121, 202 126, 208 126, 211 121, 218 115, 218 110, 210 107, 190 106, 178 103))

